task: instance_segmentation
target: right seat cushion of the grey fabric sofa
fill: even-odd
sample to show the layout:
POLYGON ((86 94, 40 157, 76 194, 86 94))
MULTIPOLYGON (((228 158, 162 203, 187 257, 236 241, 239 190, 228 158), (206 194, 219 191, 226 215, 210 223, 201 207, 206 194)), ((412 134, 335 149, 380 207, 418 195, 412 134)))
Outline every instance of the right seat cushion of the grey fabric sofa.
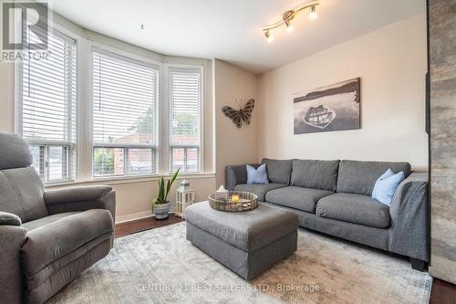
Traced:
POLYGON ((344 222, 388 228, 389 206, 367 195, 332 194, 318 201, 316 215, 344 222))

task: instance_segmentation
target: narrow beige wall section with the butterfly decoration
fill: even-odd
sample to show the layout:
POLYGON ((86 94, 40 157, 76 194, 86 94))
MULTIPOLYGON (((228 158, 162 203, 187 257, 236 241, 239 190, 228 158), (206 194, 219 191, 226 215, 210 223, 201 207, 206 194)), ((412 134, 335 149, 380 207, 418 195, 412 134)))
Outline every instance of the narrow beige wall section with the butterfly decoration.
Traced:
POLYGON ((254 109, 250 125, 243 124, 237 128, 232 120, 222 112, 224 106, 239 109, 236 100, 243 100, 243 107, 247 100, 253 98, 255 107, 257 77, 241 68, 215 59, 214 69, 214 100, 215 100, 215 142, 216 142, 216 186, 224 182, 225 166, 230 164, 244 164, 256 162, 258 158, 257 142, 257 110, 254 109))

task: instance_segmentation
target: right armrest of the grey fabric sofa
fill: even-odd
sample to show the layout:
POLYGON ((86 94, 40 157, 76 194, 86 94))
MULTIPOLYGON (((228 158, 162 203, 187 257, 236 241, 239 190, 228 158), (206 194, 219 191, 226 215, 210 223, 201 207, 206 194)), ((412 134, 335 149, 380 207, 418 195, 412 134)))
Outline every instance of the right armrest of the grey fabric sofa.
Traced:
POLYGON ((389 213, 389 250, 429 261, 429 176, 411 173, 394 193, 389 213))

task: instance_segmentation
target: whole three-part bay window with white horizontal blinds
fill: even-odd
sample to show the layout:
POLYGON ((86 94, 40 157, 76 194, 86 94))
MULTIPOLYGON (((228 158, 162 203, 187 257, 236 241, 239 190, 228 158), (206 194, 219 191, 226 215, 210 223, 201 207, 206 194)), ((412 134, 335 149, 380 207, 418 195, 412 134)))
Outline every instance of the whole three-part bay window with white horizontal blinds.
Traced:
POLYGON ((201 173, 202 63, 174 66, 63 33, 49 29, 50 56, 24 52, 16 69, 16 127, 43 182, 201 173))

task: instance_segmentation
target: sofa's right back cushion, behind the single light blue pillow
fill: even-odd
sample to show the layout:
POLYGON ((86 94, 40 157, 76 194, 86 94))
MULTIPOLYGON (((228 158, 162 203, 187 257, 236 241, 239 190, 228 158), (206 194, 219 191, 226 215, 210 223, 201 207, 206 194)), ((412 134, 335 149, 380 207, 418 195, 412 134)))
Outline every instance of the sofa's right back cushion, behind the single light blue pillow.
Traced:
POLYGON ((372 195, 374 185, 388 169, 394 173, 410 174, 409 162, 358 162, 342 161, 339 164, 337 192, 372 195))

